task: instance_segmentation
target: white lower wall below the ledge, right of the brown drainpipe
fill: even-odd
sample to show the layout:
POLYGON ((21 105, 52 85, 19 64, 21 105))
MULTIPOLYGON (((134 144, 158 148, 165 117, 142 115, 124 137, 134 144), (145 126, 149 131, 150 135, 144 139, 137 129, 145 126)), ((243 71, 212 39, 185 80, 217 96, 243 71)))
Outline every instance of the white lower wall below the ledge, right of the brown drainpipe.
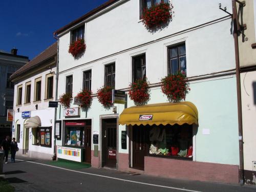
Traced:
POLYGON ((244 169, 252 170, 256 161, 256 72, 241 73, 244 169))

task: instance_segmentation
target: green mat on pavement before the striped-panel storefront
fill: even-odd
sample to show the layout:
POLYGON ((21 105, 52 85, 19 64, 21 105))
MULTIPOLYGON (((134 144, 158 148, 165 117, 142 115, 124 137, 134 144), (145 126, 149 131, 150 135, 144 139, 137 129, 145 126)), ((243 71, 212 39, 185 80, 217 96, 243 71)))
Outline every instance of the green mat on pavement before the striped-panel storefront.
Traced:
POLYGON ((82 169, 91 167, 91 164, 89 163, 79 163, 65 159, 58 159, 57 161, 48 161, 46 162, 46 164, 69 169, 82 169))

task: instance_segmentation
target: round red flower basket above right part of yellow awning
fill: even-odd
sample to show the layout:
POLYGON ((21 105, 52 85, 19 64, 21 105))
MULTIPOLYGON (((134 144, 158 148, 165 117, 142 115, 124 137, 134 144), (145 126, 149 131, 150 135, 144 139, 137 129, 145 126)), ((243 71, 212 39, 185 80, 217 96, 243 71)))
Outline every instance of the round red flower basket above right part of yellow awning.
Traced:
POLYGON ((181 102, 185 100, 188 91, 190 91, 185 74, 181 72, 162 78, 161 89, 167 96, 169 102, 181 102))

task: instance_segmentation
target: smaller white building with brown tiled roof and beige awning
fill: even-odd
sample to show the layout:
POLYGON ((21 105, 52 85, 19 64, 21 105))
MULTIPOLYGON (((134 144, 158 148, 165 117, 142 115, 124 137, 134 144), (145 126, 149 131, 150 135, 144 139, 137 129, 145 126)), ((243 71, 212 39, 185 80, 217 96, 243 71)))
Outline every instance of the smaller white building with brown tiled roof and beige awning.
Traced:
POLYGON ((14 131, 19 155, 51 159, 54 155, 57 42, 41 52, 10 79, 14 82, 14 131))

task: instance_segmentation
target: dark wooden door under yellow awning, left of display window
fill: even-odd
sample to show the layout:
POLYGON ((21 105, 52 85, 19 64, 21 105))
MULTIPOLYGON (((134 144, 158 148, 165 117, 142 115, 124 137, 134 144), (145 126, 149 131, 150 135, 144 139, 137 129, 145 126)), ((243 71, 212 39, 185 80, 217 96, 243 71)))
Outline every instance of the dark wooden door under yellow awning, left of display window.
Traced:
POLYGON ((133 168, 144 170, 144 157, 147 153, 147 132, 143 125, 133 126, 133 168))

